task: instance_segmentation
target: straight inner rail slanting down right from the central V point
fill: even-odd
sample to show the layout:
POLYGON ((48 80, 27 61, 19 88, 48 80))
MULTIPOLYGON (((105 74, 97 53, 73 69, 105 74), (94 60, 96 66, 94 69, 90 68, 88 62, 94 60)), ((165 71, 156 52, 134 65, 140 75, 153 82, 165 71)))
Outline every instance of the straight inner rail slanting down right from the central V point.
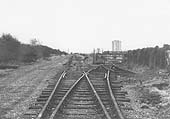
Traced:
POLYGON ((104 104, 102 103, 102 101, 101 101, 101 99, 100 99, 99 95, 97 94, 97 92, 96 92, 96 90, 95 90, 95 88, 94 88, 93 84, 91 83, 91 81, 90 81, 89 77, 87 76, 87 73, 85 73, 85 76, 86 76, 86 79, 87 79, 87 81, 89 82, 90 87, 92 88, 92 90, 93 90, 93 92, 94 92, 95 96, 97 97, 97 99, 98 99, 98 101, 99 101, 100 105, 102 106, 102 109, 103 109, 103 111, 104 111, 104 113, 105 113, 105 115, 106 115, 107 119, 111 119, 111 117, 110 117, 110 115, 108 114, 108 112, 107 112, 107 110, 106 110, 106 108, 105 108, 104 104))

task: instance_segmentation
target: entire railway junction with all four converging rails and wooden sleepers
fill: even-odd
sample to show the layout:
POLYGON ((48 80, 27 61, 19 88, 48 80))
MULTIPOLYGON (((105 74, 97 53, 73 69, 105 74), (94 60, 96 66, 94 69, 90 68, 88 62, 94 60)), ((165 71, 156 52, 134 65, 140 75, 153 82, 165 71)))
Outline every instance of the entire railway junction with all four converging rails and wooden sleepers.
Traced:
POLYGON ((116 75, 113 70, 102 65, 77 79, 64 71, 56 83, 42 92, 37 103, 30 107, 31 113, 26 113, 24 118, 125 119, 120 107, 129 100, 113 75, 116 75))

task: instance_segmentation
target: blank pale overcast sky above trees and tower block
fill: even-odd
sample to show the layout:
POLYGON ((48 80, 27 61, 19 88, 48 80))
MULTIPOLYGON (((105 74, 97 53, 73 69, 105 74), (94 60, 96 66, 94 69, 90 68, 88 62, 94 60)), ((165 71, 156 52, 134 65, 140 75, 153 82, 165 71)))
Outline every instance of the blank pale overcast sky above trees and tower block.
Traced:
POLYGON ((0 34, 70 52, 170 44, 170 0, 0 0, 0 34))

